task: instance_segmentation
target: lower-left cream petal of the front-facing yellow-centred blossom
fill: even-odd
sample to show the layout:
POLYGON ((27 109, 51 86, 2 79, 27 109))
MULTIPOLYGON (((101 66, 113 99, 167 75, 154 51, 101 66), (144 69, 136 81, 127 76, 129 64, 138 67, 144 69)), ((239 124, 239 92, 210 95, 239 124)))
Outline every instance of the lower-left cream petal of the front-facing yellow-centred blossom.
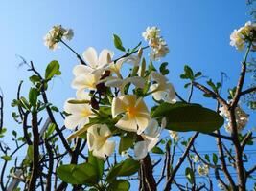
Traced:
POLYGON ((137 123, 135 118, 128 118, 128 115, 119 119, 115 126, 128 132, 137 132, 137 123))

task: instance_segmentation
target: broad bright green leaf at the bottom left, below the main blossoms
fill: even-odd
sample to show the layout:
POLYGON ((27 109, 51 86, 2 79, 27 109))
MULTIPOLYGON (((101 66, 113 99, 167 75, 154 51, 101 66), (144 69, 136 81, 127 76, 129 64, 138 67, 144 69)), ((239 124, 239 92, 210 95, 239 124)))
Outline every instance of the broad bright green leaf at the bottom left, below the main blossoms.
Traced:
POLYGON ((98 175, 95 168, 90 163, 66 164, 57 169, 60 180, 71 184, 85 184, 88 186, 98 183, 98 175))

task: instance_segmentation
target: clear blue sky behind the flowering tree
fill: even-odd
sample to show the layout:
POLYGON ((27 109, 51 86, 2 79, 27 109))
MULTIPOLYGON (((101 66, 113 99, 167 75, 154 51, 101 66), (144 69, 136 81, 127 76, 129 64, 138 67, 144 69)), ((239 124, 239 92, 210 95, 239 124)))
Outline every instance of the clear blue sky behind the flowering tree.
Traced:
MULTIPOLYGON (((43 45, 43 36, 55 24, 74 30, 70 45, 78 53, 89 46, 98 51, 114 50, 112 33, 117 33, 126 47, 132 47, 143 40, 141 32, 148 26, 159 27, 170 47, 169 55, 163 59, 169 62, 170 81, 177 92, 187 97, 184 81, 179 79, 185 64, 215 80, 220 80, 221 72, 225 72, 229 79, 224 88, 235 86, 244 53, 229 46, 229 35, 250 19, 247 11, 245 1, 234 0, 1 1, 0 87, 5 96, 5 126, 10 132, 16 127, 10 104, 19 81, 25 80, 24 94, 30 85, 27 80, 30 74, 26 67, 18 67, 21 60, 16 55, 33 60, 41 72, 51 60, 57 59, 62 75, 50 86, 51 100, 62 108, 67 97, 75 96, 70 83, 72 68, 78 64, 76 57, 63 46, 52 52, 43 45)), ((193 101, 215 106, 198 94, 193 101)), ((202 136, 198 141, 200 150, 216 150, 214 144, 203 143, 205 140, 202 136)))

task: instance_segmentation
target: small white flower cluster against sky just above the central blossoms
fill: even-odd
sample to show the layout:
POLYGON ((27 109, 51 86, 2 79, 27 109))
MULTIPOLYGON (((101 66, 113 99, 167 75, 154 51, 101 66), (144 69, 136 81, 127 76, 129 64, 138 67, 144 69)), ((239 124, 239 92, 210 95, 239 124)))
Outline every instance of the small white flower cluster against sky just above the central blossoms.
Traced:
POLYGON ((160 30, 157 27, 148 27, 146 32, 142 33, 146 41, 149 41, 151 47, 151 59, 158 60, 169 53, 169 48, 165 40, 160 36, 160 30))

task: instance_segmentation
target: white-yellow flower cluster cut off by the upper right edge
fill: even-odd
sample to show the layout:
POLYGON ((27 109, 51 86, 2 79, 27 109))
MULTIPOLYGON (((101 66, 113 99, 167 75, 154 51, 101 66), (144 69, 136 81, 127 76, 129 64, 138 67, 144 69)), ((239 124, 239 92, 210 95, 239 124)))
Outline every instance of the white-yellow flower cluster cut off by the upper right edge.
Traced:
POLYGON ((245 23, 244 27, 234 30, 234 32, 231 33, 230 45, 236 47, 239 51, 243 51, 246 43, 252 43, 252 50, 255 51, 255 33, 256 24, 248 21, 245 23))

